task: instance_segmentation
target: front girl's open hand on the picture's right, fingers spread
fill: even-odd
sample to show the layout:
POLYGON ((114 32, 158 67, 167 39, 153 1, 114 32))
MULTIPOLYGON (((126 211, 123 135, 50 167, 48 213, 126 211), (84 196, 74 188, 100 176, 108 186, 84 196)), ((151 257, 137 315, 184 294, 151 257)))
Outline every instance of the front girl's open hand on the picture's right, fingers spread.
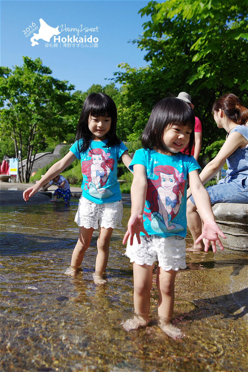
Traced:
POLYGON ((200 240, 204 239, 205 241, 204 251, 205 252, 208 251, 209 242, 211 242, 212 244, 214 253, 216 252, 216 243, 218 244, 220 249, 223 250, 224 247, 222 246, 222 243, 218 235, 220 235, 224 239, 226 238, 225 234, 223 234, 223 232, 220 230, 220 228, 218 227, 215 221, 204 222, 202 234, 199 236, 199 238, 197 238, 196 244, 199 243, 200 240))

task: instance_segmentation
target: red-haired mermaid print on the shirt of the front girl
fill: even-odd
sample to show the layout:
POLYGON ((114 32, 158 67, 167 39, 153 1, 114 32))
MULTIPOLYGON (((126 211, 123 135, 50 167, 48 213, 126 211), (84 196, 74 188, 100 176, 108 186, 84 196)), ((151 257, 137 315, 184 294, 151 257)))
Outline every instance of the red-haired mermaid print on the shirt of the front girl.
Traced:
POLYGON ((180 228, 171 222, 177 215, 184 195, 183 173, 171 166, 154 167, 157 179, 147 179, 146 205, 144 216, 151 221, 154 231, 180 228))

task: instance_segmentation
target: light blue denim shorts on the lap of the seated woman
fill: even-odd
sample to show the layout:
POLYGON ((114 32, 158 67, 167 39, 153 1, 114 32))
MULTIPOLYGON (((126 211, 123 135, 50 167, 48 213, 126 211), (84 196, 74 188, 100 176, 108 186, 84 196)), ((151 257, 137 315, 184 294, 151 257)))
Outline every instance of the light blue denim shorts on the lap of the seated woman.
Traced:
MULTIPOLYGON (((217 185, 208 186, 206 190, 209 194, 211 204, 216 203, 248 203, 248 187, 242 186, 236 182, 225 182, 219 180, 217 185)), ((190 200, 194 203, 193 196, 190 200)))

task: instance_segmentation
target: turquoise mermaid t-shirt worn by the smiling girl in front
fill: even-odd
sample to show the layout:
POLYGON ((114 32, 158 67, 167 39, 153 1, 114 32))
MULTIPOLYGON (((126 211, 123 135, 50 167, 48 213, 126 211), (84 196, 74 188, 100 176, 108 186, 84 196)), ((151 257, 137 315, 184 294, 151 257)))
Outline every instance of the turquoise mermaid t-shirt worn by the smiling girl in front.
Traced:
POLYGON ((149 235, 165 238, 172 235, 186 237, 186 180, 188 173, 200 169, 197 161, 180 152, 164 155, 140 149, 135 151, 129 169, 133 170, 135 164, 142 164, 146 169, 145 230, 149 235))

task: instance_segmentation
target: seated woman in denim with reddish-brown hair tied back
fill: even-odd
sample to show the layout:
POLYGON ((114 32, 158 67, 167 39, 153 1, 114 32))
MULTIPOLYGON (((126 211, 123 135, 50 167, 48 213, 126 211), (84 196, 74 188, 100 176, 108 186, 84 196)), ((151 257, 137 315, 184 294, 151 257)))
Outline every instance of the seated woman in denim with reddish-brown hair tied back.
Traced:
MULTIPOLYGON (((218 128, 227 132, 226 141, 216 157, 200 173, 203 184, 227 164, 225 179, 206 190, 212 204, 248 202, 248 109, 241 106, 235 94, 228 93, 215 101, 213 118, 218 128)), ((187 197, 191 195, 187 190, 187 197)), ((194 250, 204 250, 204 243, 195 243, 202 232, 202 221, 192 196, 187 201, 187 225, 194 240, 194 250)))

